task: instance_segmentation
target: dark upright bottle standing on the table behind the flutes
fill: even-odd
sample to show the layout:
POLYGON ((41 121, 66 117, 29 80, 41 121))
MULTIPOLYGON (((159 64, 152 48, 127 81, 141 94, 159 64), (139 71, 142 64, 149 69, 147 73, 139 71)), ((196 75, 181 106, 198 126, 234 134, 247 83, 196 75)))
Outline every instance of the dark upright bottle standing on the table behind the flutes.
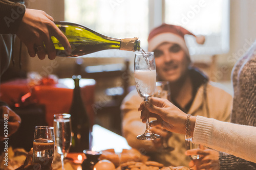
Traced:
POLYGON ((75 82, 73 100, 70 108, 72 126, 72 145, 70 152, 82 152, 91 149, 92 129, 90 128, 89 116, 84 108, 80 93, 79 80, 81 76, 72 77, 75 82))

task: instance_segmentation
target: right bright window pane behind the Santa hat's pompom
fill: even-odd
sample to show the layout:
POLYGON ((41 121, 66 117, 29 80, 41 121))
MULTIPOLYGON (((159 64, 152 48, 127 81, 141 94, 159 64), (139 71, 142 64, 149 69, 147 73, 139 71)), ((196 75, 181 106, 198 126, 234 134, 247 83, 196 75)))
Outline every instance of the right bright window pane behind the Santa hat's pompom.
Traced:
POLYGON ((186 37, 191 55, 215 55, 229 51, 228 0, 165 0, 165 22, 179 25, 196 35, 205 35, 205 44, 198 45, 186 37))

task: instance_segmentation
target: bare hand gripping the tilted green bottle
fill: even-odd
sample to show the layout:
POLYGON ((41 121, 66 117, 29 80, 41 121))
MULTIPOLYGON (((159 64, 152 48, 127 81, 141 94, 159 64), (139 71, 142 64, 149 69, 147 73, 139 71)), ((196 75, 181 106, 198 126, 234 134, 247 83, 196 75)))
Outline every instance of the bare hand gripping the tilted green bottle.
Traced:
POLYGON ((56 51, 51 36, 56 37, 64 46, 67 53, 71 53, 71 46, 67 37, 57 28, 53 18, 40 10, 26 9, 22 21, 20 22, 16 35, 25 43, 30 57, 35 57, 35 46, 46 46, 37 52, 39 59, 45 59, 46 52, 49 59, 56 57, 56 51))

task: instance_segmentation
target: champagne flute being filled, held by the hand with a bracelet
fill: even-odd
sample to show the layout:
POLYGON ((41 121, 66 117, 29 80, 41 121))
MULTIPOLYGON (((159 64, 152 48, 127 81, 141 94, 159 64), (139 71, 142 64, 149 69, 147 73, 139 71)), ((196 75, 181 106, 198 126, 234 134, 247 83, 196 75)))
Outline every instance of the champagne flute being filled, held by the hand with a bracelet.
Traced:
MULTIPOLYGON (((156 64, 153 52, 136 53, 134 59, 134 77, 136 89, 144 101, 149 101, 156 87, 156 64)), ((144 134, 137 136, 140 140, 154 140, 160 138, 159 135, 151 132, 147 116, 146 130, 144 134)))

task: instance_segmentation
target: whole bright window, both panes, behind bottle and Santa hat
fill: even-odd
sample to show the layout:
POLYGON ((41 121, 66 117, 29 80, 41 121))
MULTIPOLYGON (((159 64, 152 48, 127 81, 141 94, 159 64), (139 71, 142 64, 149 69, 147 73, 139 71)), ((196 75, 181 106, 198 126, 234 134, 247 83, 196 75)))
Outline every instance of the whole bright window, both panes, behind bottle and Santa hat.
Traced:
MULTIPOLYGON (((198 45, 186 37, 191 55, 215 55, 229 50, 229 0, 65 0, 66 21, 76 22, 114 38, 139 37, 147 50, 147 36, 162 22, 206 36, 198 45)), ((87 57, 127 57, 133 52, 108 50, 87 57)))

